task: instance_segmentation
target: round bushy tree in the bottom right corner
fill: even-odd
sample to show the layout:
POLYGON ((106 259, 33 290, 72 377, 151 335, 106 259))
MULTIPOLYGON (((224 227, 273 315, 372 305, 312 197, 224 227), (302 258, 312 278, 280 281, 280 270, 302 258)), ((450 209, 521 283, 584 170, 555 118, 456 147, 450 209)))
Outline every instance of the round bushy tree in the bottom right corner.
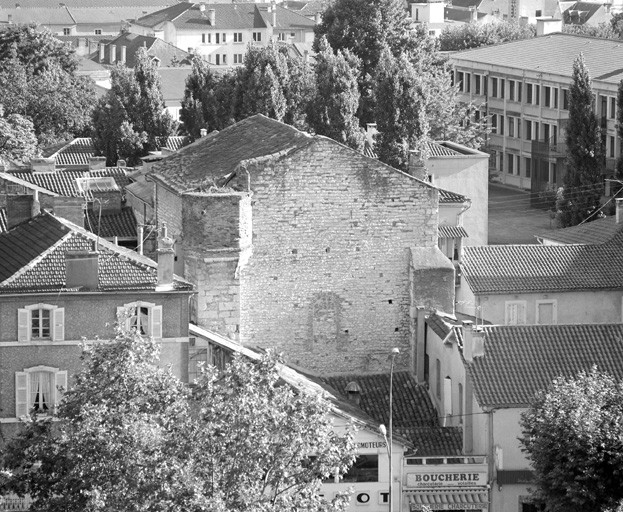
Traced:
POLYGON ((623 387, 593 368, 556 379, 521 417, 535 498, 550 512, 601 512, 623 499, 623 387))

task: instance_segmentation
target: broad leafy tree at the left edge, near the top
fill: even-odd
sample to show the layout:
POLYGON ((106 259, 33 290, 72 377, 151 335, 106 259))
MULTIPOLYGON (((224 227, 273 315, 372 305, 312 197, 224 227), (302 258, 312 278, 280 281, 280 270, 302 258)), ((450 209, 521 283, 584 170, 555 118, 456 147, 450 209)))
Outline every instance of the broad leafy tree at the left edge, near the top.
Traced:
POLYGON ((49 32, 10 26, 0 34, 0 104, 32 121, 40 145, 89 129, 94 84, 76 67, 73 50, 49 32))

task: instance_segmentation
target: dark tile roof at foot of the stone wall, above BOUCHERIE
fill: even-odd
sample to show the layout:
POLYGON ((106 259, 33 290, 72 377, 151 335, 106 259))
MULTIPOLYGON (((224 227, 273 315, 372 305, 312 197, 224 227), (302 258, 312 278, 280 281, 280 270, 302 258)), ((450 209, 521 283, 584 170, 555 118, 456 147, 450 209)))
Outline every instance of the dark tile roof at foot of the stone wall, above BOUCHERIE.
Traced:
MULTIPOLYGON (((361 388, 359 407, 376 418, 379 424, 388 424, 389 374, 327 377, 324 380, 344 396, 348 383, 356 382, 361 388)), ((394 431, 413 442, 418 456, 461 453, 460 432, 439 426, 437 411, 428 392, 409 372, 394 373, 392 411, 394 431)))

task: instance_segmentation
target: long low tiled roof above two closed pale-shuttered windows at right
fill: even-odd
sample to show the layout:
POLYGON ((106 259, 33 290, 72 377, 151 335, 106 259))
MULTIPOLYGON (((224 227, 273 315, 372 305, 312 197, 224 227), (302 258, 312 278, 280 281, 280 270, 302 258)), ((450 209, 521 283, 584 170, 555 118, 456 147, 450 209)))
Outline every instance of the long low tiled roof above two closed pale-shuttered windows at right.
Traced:
POLYGON ((462 275, 476 294, 623 287, 621 243, 465 247, 462 275))

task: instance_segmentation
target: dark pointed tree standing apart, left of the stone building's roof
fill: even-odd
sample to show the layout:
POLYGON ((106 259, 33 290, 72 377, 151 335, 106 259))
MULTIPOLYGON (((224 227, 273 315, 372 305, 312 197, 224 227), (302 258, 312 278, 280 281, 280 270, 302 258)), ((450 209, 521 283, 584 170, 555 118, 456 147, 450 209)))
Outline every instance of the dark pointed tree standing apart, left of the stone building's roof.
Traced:
POLYGON ((110 79, 110 90, 93 112, 93 144, 108 165, 119 158, 135 165, 159 149, 158 140, 171 135, 175 123, 165 110, 160 75, 147 50, 137 51, 133 69, 117 65, 110 79))

